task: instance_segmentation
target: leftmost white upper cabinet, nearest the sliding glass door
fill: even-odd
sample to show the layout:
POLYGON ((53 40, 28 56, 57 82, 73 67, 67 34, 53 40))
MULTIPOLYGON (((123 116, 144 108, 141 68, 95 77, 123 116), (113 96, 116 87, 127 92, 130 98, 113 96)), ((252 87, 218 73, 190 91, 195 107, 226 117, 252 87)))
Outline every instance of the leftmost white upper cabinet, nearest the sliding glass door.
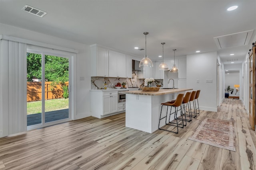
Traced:
POLYGON ((108 77, 108 49, 91 45, 91 76, 108 77))

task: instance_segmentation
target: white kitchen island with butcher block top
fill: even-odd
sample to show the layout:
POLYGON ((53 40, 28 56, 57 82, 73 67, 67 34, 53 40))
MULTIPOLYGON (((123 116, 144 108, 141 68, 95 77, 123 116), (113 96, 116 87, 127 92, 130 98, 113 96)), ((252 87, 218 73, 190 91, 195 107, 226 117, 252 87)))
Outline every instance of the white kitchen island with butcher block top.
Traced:
MULTIPOLYGON (((158 129, 161 103, 176 99, 179 93, 186 93, 191 88, 159 89, 158 92, 142 90, 124 91, 126 94, 126 127, 153 133, 158 129)), ((166 113, 163 107, 162 113, 166 113)), ((168 109, 169 111, 170 109, 168 109)), ((174 119, 171 117, 171 120, 174 119)), ((161 121, 160 127, 165 125, 161 121)))

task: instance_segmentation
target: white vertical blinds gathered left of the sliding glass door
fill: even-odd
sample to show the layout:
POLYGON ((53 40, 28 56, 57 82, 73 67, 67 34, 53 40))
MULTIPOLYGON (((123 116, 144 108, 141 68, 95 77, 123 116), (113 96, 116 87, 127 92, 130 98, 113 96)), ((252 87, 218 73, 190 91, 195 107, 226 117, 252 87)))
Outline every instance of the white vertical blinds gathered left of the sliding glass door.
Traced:
POLYGON ((26 44, 0 40, 0 137, 27 130, 26 44))

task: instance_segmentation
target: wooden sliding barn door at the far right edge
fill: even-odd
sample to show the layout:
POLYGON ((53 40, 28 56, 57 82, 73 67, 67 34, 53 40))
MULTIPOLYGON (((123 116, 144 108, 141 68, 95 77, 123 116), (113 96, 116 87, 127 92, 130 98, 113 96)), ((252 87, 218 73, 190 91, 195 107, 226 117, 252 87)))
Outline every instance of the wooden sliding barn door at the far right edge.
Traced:
POLYGON ((249 121, 252 129, 255 130, 255 53, 256 46, 252 47, 250 53, 250 82, 249 82, 249 121))

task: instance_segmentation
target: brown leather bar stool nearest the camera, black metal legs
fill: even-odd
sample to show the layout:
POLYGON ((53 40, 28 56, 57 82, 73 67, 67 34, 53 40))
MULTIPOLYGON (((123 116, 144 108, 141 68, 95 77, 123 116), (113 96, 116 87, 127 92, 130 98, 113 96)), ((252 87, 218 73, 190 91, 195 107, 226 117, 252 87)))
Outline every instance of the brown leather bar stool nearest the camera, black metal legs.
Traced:
MULTIPOLYGON (((180 120, 180 121, 182 121, 182 124, 180 124, 180 123, 179 123, 180 121, 178 122, 178 119, 177 119, 177 112, 179 111, 179 110, 178 110, 178 107, 180 107, 180 111, 182 112, 181 105, 182 105, 183 96, 184 96, 184 93, 180 93, 180 94, 178 94, 178 96, 177 96, 175 102, 165 102, 165 103, 162 103, 162 104, 161 104, 162 107, 161 107, 161 112, 160 112, 160 118, 159 118, 159 123, 158 123, 158 129, 161 129, 161 128, 160 128, 160 121, 161 121, 162 119, 164 119, 164 118, 165 118, 165 124, 166 124, 166 125, 176 126, 176 127, 177 127, 177 131, 170 131, 170 130, 166 130, 166 129, 161 129, 161 130, 165 130, 165 131, 169 131, 169 132, 173 132, 173 133, 178 133, 178 131, 179 131, 178 127, 184 127, 183 117, 182 117, 182 120, 180 120), (164 117, 161 118, 163 106, 167 106, 167 110, 166 110, 166 116, 164 116, 164 117), (168 107, 169 107, 169 106, 171 107, 171 109, 170 109, 170 115, 169 115, 169 122, 167 123, 168 107), (175 108, 175 111, 174 111, 174 112, 172 112, 172 107, 175 108), (171 117, 172 114, 174 114, 174 119, 176 119, 176 123, 170 122, 170 117, 171 117), (179 125, 180 125, 180 126, 179 126, 179 125)), ((181 113, 181 116, 182 116, 182 113, 181 113)))

